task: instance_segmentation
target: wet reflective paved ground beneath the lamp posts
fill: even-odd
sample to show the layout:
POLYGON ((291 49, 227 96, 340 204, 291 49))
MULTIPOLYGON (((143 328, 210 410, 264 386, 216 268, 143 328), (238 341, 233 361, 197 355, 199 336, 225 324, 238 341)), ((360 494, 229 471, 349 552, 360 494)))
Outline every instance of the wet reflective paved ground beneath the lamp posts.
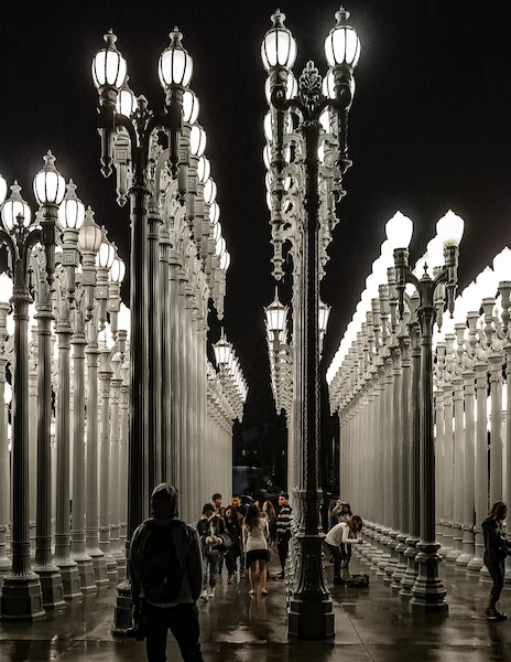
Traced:
MULTIPOLYGON (((368 572, 354 558, 351 572, 368 572)), ((284 586, 269 581, 269 596, 248 595, 246 579, 217 585, 216 597, 199 600, 206 662, 511 662, 511 620, 482 616, 488 585, 479 586, 441 567, 449 615, 415 616, 373 573, 368 588, 331 586, 333 642, 289 642, 284 586)), ((331 566, 327 565, 330 576, 331 566)), ((116 589, 68 606, 34 623, 0 622, 0 661, 120 662, 145 660, 144 644, 110 634, 116 589)), ((511 591, 499 607, 511 615, 511 591)), ((511 619, 511 616, 510 616, 511 619)), ((181 660, 168 637, 168 660, 181 660)))

